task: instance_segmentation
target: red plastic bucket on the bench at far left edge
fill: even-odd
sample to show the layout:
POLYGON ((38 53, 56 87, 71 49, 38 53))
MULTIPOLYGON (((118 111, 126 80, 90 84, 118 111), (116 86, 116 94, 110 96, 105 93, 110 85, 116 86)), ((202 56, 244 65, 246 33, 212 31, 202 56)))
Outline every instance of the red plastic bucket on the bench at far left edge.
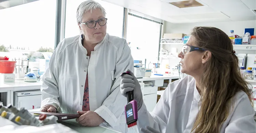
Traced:
POLYGON ((17 61, 0 60, 0 73, 13 73, 17 61))

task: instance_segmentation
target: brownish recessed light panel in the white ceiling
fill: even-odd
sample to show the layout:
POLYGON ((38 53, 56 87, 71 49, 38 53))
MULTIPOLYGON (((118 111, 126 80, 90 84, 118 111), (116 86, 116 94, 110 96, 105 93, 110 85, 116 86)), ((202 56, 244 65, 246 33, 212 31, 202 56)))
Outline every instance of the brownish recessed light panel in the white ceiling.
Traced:
POLYGON ((189 8, 189 7, 203 6, 201 3, 199 3, 195 0, 170 2, 170 4, 175 5, 178 8, 189 8))

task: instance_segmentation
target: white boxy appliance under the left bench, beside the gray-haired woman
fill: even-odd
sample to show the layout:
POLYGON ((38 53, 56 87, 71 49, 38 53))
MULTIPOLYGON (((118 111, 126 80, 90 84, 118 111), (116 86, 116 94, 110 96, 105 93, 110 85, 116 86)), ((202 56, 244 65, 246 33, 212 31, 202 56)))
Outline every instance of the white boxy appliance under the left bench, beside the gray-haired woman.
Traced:
POLYGON ((24 107, 25 109, 40 108, 41 94, 40 90, 14 92, 14 106, 17 108, 24 107))

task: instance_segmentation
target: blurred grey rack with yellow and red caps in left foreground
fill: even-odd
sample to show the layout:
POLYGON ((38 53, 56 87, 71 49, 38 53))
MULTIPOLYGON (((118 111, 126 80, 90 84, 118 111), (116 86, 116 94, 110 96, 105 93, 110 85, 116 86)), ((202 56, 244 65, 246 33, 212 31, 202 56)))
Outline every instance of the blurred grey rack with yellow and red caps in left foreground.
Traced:
POLYGON ((46 115, 41 115, 39 119, 37 119, 32 114, 30 114, 27 109, 20 108, 20 110, 18 110, 11 104, 9 104, 7 107, 0 106, 0 114, 2 117, 9 119, 10 121, 19 125, 31 125, 39 127, 42 125, 57 123, 56 116, 50 116, 46 119, 46 115))

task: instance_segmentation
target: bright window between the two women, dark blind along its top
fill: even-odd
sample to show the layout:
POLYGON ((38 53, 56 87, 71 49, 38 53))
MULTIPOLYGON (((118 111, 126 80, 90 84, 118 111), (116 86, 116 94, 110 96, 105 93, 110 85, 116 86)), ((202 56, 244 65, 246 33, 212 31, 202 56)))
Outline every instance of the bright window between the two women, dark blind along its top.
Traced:
POLYGON ((134 60, 146 59, 146 68, 148 64, 158 63, 159 40, 161 23, 156 23, 149 19, 143 19, 142 15, 134 15, 135 11, 129 10, 127 17, 126 40, 131 49, 134 60), (130 13, 131 12, 131 13, 130 13))

